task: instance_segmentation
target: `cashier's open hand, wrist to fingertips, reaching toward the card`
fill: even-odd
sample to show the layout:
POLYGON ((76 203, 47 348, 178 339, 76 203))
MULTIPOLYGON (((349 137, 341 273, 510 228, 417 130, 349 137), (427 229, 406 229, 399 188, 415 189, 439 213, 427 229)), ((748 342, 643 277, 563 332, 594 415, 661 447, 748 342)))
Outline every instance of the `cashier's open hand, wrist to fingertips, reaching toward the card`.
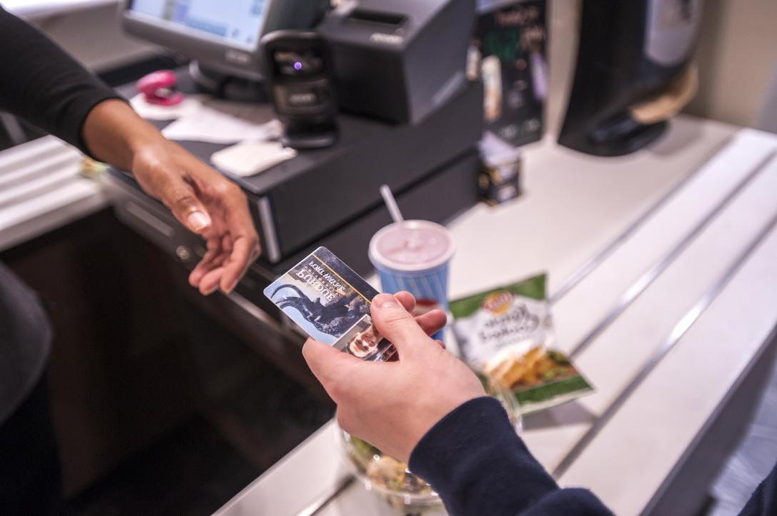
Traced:
POLYGON ((200 234, 207 251, 189 276, 205 295, 232 292, 259 256, 259 237, 248 202, 235 183, 169 140, 134 154, 132 172, 184 226, 200 234))

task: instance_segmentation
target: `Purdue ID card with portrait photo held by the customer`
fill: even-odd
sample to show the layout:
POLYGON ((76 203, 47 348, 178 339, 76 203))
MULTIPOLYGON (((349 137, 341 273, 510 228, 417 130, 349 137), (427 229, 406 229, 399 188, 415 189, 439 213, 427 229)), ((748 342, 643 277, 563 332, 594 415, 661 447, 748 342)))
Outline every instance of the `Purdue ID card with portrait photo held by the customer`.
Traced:
POLYGON ((370 303, 378 291, 327 248, 294 265, 264 295, 317 341, 363 360, 395 353, 372 324, 370 303))

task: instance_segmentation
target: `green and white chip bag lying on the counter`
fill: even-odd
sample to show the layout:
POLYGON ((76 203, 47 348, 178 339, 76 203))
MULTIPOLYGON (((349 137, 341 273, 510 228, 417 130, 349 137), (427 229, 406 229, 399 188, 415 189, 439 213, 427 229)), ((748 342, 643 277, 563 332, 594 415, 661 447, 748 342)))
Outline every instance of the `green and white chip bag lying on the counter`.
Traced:
POLYGON ((563 353, 555 333, 545 275, 451 301, 453 331, 465 361, 510 389, 528 414, 593 391, 563 353))

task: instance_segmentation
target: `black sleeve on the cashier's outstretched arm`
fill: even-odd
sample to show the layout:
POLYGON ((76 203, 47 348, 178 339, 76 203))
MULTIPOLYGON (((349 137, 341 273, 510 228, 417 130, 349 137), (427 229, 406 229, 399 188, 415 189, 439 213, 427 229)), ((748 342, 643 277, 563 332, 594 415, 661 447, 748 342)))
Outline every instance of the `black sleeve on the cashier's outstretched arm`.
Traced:
POLYGON ((120 97, 38 29, 0 7, 0 109, 89 154, 82 125, 107 99, 120 97))

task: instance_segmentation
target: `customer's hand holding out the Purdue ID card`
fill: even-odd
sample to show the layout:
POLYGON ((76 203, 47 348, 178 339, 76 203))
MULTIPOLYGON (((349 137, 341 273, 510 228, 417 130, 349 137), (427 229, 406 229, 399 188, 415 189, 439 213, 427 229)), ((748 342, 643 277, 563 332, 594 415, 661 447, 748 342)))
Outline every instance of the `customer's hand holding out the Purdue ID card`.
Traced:
POLYGON ((414 304, 409 293, 399 293, 376 296, 371 305, 375 327, 394 343, 398 362, 364 362, 312 339, 302 348, 337 404, 340 426, 405 462, 445 414, 485 395, 475 373, 427 335, 444 326, 445 314, 434 310, 413 320, 414 304))

